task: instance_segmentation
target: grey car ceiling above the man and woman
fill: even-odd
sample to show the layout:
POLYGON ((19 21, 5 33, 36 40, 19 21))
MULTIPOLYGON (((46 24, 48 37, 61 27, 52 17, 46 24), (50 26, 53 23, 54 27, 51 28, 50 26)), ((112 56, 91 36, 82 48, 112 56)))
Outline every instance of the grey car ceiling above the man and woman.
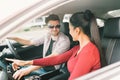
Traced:
POLYGON ((120 9, 120 0, 73 0, 50 13, 56 13, 60 16, 78 11, 91 10, 97 17, 106 19, 111 17, 106 15, 110 10, 120 9))

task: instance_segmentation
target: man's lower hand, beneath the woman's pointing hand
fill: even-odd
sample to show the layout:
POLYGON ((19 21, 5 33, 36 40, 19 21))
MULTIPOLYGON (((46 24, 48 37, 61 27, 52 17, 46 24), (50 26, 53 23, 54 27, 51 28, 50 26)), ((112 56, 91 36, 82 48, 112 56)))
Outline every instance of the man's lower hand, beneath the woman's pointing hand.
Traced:
POLYGON ((13 78, 15 80, 20 80, 23 76, 28 75, 31 71, 29 70, 29 68, 24 68, 24 69, 20 69, 17 70, 14 74, 13 74, 13 78))

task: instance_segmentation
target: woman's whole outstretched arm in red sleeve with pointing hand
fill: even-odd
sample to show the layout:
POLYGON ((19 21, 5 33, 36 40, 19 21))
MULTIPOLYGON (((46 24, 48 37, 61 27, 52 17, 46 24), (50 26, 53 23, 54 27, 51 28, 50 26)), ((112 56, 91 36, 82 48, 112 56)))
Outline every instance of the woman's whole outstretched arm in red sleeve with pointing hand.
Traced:
POLYGON ((25 65, 52 66, 52 65, 57 65, 57 64, 61 64, 63 62, 68 61, 68 59, 72 56, 72 54, 73 54, 73 51, 69 50, 58 56, 40 58, 40 59, 35 59, 30 61, 8 59, 8 58, 6 58, 6 60, 13 62, 14 68, 17 68, 18 66, 25 66, 25 65))

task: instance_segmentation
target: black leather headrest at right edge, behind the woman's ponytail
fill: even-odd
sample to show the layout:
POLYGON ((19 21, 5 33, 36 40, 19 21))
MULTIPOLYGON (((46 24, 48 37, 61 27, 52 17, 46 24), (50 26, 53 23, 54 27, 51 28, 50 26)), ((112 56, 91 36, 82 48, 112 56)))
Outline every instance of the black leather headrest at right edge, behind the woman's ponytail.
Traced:
POLYGON ((105 22, 104 37, 120 38, 120 17, 110 18, 105 22))

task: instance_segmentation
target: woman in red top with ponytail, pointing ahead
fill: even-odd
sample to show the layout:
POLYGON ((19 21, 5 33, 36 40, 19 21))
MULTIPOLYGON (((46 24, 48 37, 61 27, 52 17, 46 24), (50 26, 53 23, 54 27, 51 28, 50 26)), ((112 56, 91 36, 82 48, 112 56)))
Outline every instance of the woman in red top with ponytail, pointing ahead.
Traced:
POLYGON ((99 50, 97 49, 97 47, 99 48, 99 37, 96 37, 98 32, 94 31, 97 30, 97 25, 93 13, 89 10, 74 13, 70 18, 69 29, 73 41, 79 41, 80 44, 64 54, 31 61, 6 60, 13 61, 14 69, 25 65, 51 66, 67 62, 70 72, 69 80, 99 69, 101 67, 99 50))

